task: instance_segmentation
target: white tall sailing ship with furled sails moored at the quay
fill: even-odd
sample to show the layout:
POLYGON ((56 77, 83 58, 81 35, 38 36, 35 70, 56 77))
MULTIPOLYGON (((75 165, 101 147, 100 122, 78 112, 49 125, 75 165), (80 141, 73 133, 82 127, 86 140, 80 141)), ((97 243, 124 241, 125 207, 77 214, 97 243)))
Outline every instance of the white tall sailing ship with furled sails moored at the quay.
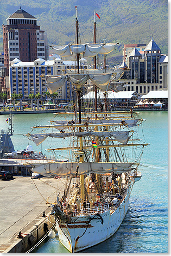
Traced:
POLYGON ((53 47, 63 56, 76 54, 77 74, 66 70, 64 75, 46 76, 50 93, 56 92, 66 80, 71 82, 77 93, 73 112, 56 113, 58 120, 51 120, 48 125, 34 126, 28 134, 36 145, 48 137, 55 138, 60 145, 63 144, 62 147, 48 151, 57 152, 56 155, 61 151, 66 152, 63 154, 66 157, 64 161, 46 160, 45 163, 31 165, 34 173, 58 176, 66 184, 64 194, 60 196, 59 193, 51 207, 60 242, 70 252, 97 245, 117 231, 128 211, 132 187, 141 178, 138 167, 143 149, 148 145, 138 138, 136 129, 140 129, 143 122, 138 113, 113 112, 107 106, 107 92, 124 89, 122 83, 116 82, 124 70, 105 68, 100 72, 96 69, 97 54, 111 52, 115 44, 96 43, 95 14, 93 44, 79 44, 76 7, 77 44, 53 47), (95 69, 80 69, 80 54, 93 57, 95 69), (83 111, 82 92, 92 86, 94 111, 89 111, 88 105, 83 111), (98 109, 98 90, 104 92, 104 111, 98 109), (65 117, 65 120, 61 120, 61 117, 65 117), (40 132, 35 133, 35 130, 40 132), (65 141, 61 143, 61 139, 65 141))

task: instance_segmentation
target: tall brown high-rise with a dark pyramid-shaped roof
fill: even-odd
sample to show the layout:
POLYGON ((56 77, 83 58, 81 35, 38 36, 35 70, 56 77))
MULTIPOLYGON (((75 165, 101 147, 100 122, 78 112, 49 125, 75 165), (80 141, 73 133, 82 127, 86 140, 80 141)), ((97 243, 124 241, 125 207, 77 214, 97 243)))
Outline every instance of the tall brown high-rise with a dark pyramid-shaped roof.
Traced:
POLYGON ((18 58, 22 62, 33 62, 37 58, 47 58, 45 31, 37 26, 37 19, 23 9, 18 9, 8 17, 3 25, 4 65, 9 76, 10 62, 18 58))

